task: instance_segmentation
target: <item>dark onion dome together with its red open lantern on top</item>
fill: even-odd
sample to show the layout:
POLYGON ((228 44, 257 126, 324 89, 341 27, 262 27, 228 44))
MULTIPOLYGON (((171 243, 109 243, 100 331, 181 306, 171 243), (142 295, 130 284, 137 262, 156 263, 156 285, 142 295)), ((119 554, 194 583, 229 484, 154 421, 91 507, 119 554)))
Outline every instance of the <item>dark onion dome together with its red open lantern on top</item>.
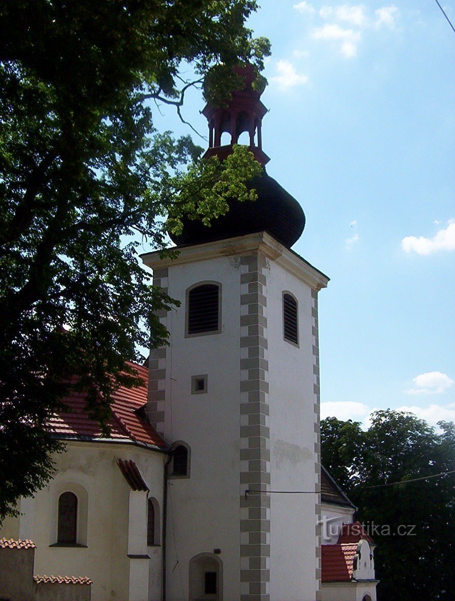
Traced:
POLYGON ((228 213, 213 219, 210 227, 183 218, 182 233, 169 235, 177 245, 194 245, 266 231, 290 248, 304 231, 305 215, 298 201, 266 172, 265 165, 270 159, 262 150, 261 122, 267 109, 260 100, 261 92, 252 87, 254 70, 246 64, 237 67, 236 72, 243 76, 243 89, 232 94, 226 108, 208 103, 202 111, 209 121, 209 148, 204 158, 216 154, 224 159, 232 152, 240 134, 248 132, 249 150, 263 165, 263 174, 246 183, 257 192, 257 200, 239 202, 233 198, 228 201, 228 213), (224 132, 230 135, 230 144, 221 144, 224 132))

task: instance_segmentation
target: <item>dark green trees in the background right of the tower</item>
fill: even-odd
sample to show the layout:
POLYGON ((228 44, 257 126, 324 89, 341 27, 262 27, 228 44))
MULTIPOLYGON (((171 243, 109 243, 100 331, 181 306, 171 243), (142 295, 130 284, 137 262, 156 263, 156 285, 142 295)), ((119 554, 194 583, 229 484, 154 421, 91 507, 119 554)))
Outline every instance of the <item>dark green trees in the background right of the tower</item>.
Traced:
POLYGON ((366 431, 336 418, 321 423, 322 463, 377 543, 378 601, 454 599, 455 474, 410 481, 455 469, 455 426, 439 427, 389 409, 374 412, 366 431))

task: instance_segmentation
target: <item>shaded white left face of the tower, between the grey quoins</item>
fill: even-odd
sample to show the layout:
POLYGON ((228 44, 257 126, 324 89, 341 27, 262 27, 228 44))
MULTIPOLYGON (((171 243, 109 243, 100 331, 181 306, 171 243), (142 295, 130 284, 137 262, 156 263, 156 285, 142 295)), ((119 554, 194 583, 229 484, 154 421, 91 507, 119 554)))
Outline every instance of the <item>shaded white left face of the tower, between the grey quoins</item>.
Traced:
POLYGON ((182 305, 167 319, 165 438, 191 448, 191 477, 169 480, 168 599, 188 599, 190 560, 214 549, 221 549, 224 599, 238 599, 239 261, 175 264, 166 284, 182 305), (185 337, 186 290, 203 281, 221 284, 221 333, 185 337), (192 376, 201 374, 207 375, 207 392, 191 394, 192 376))

